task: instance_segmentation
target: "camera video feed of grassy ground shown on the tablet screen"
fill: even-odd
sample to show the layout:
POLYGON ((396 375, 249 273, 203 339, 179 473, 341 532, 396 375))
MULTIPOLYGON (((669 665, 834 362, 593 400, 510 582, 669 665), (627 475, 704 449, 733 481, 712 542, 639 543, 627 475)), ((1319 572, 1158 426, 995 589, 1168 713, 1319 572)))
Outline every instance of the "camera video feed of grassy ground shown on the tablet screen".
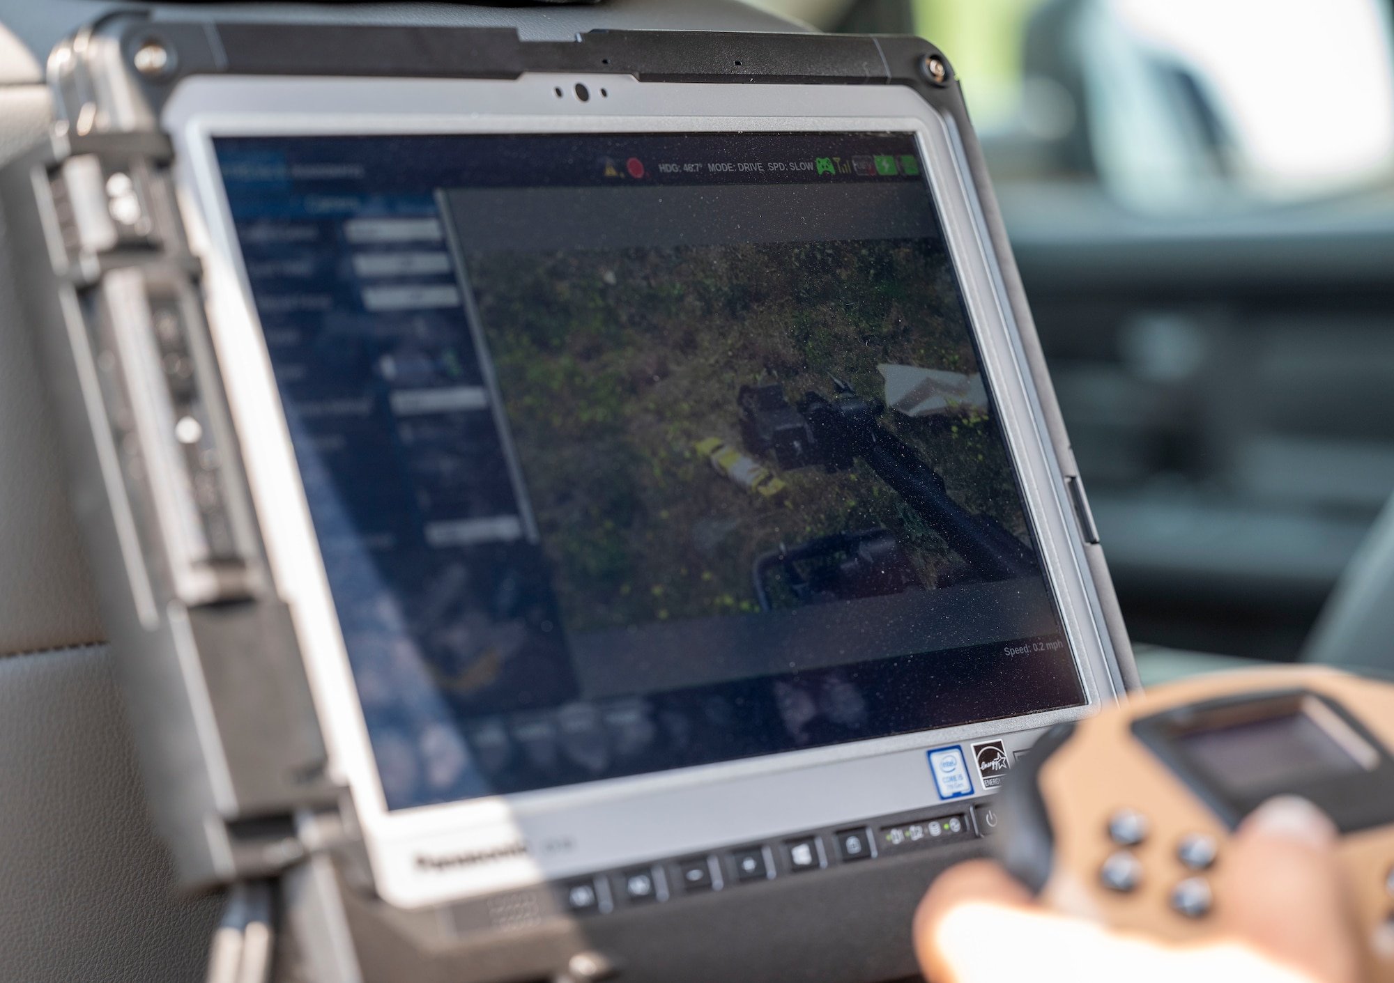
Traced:
POLYGON ((1037 574, 935 252, 466 255, 569 631, 1037 574))

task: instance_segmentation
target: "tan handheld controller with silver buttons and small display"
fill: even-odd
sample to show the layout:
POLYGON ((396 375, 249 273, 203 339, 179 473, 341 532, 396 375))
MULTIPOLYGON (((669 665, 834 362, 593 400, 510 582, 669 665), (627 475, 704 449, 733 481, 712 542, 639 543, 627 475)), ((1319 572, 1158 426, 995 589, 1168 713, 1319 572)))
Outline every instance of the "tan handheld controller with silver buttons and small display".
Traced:
POLYGON ((1274 795, 1341 833, 1368 979, 1394 980, 1394 685, 1281 667, 1188 679, 1062 724, 1004 788, 998 854, 1043 901, 1083 899, 1115 927, 1214 930, 1213 873, 1274 795))

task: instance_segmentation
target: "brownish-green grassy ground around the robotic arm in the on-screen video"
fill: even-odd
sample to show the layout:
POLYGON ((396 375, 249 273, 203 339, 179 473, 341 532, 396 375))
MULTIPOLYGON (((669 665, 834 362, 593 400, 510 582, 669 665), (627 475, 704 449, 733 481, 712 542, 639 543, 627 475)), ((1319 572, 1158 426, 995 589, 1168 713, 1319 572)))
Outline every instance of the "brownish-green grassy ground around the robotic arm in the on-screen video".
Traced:
MULTIPOLYGON (((466 256, 528 497, 569 631, 756 611, 754 560, 889 529, 923 586, 960 565, 857 458, 781 469, 746 450, 736 394, 790 405, 834 377, 884 402, 878 363, 979 370, 956 285, 928 241, 677 246, 466 256), (718 437, 786 483, 718 473, 718 437)), ((1025 535, 1005 447, 981 412, 878 422, 972 512, 1025 535)))

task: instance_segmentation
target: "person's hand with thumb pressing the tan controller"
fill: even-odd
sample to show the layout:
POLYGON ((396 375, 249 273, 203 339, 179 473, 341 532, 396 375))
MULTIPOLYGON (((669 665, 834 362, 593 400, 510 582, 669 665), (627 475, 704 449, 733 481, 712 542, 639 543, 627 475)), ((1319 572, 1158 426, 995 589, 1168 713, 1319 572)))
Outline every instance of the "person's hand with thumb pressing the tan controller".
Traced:
POLYGON ((1186 944, 1052 912, 993 860, 969 860, 924 895, 914 950, 934 983, 1358 983, 1335 845, 1310 802, 1270 799, 1216 870, 1216 934, 1186 944))

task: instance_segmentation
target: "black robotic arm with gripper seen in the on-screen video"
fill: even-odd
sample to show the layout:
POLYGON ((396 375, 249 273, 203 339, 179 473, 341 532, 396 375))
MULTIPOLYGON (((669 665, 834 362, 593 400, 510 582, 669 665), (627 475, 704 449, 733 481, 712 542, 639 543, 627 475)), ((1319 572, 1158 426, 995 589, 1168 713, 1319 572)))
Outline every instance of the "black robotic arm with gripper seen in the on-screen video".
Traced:
POLYGON ((974 515, 949 497, 944 479, 878 422, 880 404, 857 397, 834 380, 838 395, 807 393, 797 411, 779 386, 743 387, 742 430, 746 444, 769 453, 783 468, 822 464, 845 471, 855 458, 866 464, 944 537, 984 581, 1037 572, 1032 550, 986 515, 974 515))

